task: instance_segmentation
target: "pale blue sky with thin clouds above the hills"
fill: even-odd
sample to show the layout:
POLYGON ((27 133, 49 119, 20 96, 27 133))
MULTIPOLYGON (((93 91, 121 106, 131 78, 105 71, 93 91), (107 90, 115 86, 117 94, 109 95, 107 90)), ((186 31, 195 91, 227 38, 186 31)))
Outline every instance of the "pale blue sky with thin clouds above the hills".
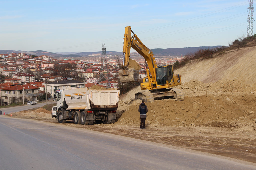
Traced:
POLYGON ((0 49, 121 52, 124 29, 150 49, 227 45, 246 37, 249 1, 0 0, 0 49))

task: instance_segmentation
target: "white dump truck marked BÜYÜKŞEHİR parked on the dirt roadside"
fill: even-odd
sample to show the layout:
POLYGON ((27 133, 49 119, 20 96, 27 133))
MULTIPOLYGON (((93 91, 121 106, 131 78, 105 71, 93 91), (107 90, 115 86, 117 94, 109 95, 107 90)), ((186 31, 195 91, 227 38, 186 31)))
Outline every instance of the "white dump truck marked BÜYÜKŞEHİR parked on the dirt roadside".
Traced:
POLYGON ((115 123, 120 90, 65 88, 58 92, 59 123, 74 120, 75 124, 115 123))

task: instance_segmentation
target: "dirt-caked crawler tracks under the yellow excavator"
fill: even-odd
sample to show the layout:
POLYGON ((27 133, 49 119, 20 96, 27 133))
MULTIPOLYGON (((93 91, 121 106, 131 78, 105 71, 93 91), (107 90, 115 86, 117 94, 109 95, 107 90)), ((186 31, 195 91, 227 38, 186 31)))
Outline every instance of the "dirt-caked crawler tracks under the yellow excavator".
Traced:
POLYGON ((154 100, 162 99, 177 99, 177 101, 184 100, 184 93, 178 88, 170 88, 162 91, 157 90, 145 90, 135 94, 135 99, 144 100, 145 102, 151 102, 154 100))

